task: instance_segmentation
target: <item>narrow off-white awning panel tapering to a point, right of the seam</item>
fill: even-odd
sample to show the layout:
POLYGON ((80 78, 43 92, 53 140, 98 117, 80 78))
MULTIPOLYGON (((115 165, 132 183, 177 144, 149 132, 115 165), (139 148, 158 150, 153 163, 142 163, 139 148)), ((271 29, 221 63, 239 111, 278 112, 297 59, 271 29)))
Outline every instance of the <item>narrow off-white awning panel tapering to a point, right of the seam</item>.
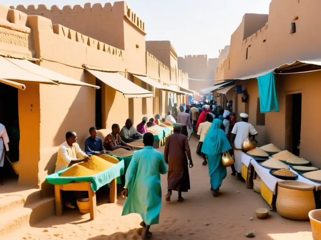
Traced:
MULTIPOLYGON (((22 69, 29 71, 31 73, 37 74, 37 75, 45 77, 47 79, 50 79, 57 84, 85 86, 85 87, 92 87, 95 89, 100 88, 99 86, 84 83, 84 82, 72 79, 70 77, 64 76, 62 74, 59 74, 57 72, 51 71, 47 68, 41 67, 37 64, 34 64, 28 60, 13 59, 13 58, 7 58, 7 60, 10 61, 11 63, 15 64, 19 68, 22 68, 22 69)), ((0 77, 1 77, 1 75, 0 75, 0 77)), ((4 77, 1 77, 1 78, 4 78, 4 77)))

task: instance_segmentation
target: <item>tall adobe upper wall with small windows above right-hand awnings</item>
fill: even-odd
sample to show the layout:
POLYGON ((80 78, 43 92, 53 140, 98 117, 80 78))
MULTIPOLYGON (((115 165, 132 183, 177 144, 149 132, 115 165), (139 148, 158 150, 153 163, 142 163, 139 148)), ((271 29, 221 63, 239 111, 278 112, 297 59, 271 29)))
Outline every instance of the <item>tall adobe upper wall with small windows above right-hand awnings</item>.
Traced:
POLYGON ((313 0, 273 0, 268 23, 245 40, 243 18, 239 28, 231 36, 230 69, 224 67, 224 78, 252 75, 295 60, 319 58, 316 49, 319 49, 320 33, 316 29, 321 27, 321 21, 316 20, 315 16, 320 7, 321 2, 313 0), (294 34, 290 34, 292 22, 296 23, 294 34))

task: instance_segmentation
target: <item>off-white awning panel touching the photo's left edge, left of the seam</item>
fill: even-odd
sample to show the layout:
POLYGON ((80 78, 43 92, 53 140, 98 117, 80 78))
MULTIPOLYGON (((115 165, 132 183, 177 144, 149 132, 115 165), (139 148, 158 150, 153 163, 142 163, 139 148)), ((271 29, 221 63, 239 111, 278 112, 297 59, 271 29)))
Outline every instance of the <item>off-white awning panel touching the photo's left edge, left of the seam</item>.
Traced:
MULTIPOLYGON (((39 76, 35 73, 32 73, 28 70, 25 70, 18 65, 14 64, 11 59, 0 57, 0 78, 6 80, 21 80, 26 82, 34 82, 34 83, 42 83, 42 84, 53 84, 57 85, 57 83, 52 80, 39 76)), ((28 61, 15 59, 18 61, 28 61)), ((32 63, 30 63, 32 64, 32 63)))

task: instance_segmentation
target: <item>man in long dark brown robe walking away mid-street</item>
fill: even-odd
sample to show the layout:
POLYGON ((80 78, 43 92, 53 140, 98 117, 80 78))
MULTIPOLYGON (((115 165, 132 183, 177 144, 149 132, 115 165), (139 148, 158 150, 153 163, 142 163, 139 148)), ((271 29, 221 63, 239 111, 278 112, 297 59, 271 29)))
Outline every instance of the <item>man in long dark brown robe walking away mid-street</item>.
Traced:
POLYGON ((189 148, 187 136, 181 134, 181 124, 173 124, 174 133, 166 140, 164 158, 168 167, 168 192, 166 194, 166 202, 170 201, 172 190, 178 191, 178 202, 183 202, 182 192, 190 189, 188 161, 189 167, 193 167, 191 150, 189 148))

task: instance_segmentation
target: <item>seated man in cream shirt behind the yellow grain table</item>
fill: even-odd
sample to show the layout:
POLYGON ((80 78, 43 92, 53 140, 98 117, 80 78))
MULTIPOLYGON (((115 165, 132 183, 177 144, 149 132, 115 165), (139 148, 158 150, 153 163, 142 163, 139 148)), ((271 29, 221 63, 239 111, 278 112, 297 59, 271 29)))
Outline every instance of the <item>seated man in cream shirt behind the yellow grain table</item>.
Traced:
MULTIPOLYGON (((85 154, 79 147, 77 141, 77 134, 69 131, 66 133, 66 141, 63 142, 58 149, 58 156, 56 162, 55 172, 64 170, 69 165, 88 162, 90 157, 85 154)), ((69 208, 75 208, 77 198, 80 198, 81 192, 65 191, 66 196, 65 204, 69 208), (73 203, 72 203, 73 200, 73 203)))

